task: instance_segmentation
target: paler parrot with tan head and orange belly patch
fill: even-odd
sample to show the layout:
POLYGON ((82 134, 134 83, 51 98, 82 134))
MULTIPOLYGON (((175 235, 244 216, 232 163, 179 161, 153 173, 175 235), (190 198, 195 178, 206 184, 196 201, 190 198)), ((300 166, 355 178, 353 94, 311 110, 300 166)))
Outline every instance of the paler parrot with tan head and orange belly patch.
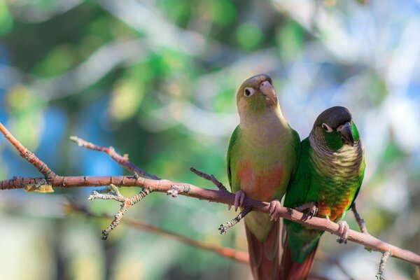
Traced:
POLYGON ((235 211, 244 197, 270 203, 269 214, 245 217, 246 238, 254 279, 279 276, 280 200, 297 167, 299 135, 281 113, 272 79, 248 78, 237 92, 240 123, 228 148, 228 179, 235 192, 235 211))

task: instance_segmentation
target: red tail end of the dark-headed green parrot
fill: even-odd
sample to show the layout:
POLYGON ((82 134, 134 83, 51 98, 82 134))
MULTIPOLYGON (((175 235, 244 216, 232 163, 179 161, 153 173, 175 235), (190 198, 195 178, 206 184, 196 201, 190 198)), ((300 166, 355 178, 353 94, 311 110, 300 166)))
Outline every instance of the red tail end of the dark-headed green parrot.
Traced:
POLYGON ((312 263, 314 262, 314 256, 316 253, 316 248, 318 248, 318 242, 309 252, 309 254, 304 258, 303 262, 295 262, 292 260, 292 255, 290 247, 288 246, 287 236, 286 240, 283 243, 283 257, 282 262, 282 272, 283 275, 281 279, 284 280, 304 280, 307 279, 309 270, 311 269, 312 263))

